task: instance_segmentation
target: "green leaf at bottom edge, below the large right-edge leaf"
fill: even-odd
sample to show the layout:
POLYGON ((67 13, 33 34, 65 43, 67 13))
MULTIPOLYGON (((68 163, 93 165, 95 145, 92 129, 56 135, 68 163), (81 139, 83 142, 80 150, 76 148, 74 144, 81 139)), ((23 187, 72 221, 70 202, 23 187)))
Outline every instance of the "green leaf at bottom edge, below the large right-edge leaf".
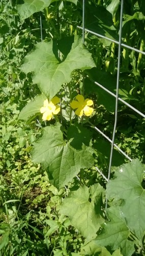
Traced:
POLYGON ((121 248, 121 253, 124 256, 131 256, 134 252, 134 243, 128 240, 130 231, 122 211, 118 207, 110 207, 106 212, 110 221, 103 224, 103 234, 94 240, 95 243, 101 246, 110 246, 112 250, 121 248))

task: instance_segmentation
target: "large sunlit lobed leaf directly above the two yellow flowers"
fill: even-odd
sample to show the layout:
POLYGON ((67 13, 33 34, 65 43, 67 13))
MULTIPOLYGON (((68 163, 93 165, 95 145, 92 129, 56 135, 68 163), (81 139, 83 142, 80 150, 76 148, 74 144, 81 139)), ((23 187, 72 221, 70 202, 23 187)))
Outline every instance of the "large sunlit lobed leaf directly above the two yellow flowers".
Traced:
POLYGON ((81 40, 75 37, 71 51, 63 62, 53 54, 53 42, 39 42, 36 50, 25 57, 21 70, 33 72, 33 82, 38 83, 40 90, 49 98, 60 91, 65 82, 71 81, 71 73, 76 69, 91 69, 95 63, 91 54, 84 48, 81 40))

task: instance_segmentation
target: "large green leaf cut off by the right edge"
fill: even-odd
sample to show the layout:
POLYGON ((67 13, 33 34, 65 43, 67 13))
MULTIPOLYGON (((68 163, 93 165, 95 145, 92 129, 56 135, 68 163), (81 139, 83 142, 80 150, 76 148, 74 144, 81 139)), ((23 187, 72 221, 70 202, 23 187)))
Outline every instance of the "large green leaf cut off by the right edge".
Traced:
POLYGON ((124 217, 128 227, 140 240, 145 232, 145 189, 141 185, 143 169, 138 159, 123 164, 115 172, 115 179, 107 185, 108 197, 125 200, 121 207, 124 217))

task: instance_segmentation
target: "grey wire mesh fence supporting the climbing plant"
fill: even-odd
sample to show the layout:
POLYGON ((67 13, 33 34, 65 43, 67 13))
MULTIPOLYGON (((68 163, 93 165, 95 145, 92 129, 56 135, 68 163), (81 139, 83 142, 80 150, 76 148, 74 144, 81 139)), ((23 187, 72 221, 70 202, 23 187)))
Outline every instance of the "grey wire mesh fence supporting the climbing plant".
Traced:
MULTIPOLYGON (((85 37, 85 32, 90 33, 92 35, 95 35, 97 37, 100 38, 104 38, 107 39, 111 42, 113 42, 114 44, 118 45, 118 68, 117 68, 117 81, 116 81, 116 94, 112 93, 111 91, 109 91, 107 88, 105 88, 103 86, 103 84, 100 84, 98 81, 93 80, 92 78, 89 78, 91 81, 94 82, 94 84, 96 86, 98 86, 99 88, 101 88, 102 90, 106 91, 108 94, 110 94, 112 97, 115 98, 115 112, 114 112, 114 127, 113 127, 113 133, 112 133, 112 138, 110 139, 109 137, 107 137, 103 132, 100 131, 100 129, 98 129, 98 127, 96 127, 95 125, 93 125, 91 122, 90 124, 93 125, 94 129, 101 134, 106 140, 108 140, 108 142, 111 143, 111 151, 110 151, 110 158, 109 158, 109 168, 108 168, 108 177, 106 177, 101 170, 96 167, 97 171, 102 175, 102 177, 108 182, 110 179, 110 172, 111 172, 111 165, 112 165, 112 155, 113 155, 113 148, 117 148, 117 150, 123 154, 129 161, 132 161, 132 159, 121 150, 121 148, 114 143, 115 140, 115 130, 117 128, 117 121, 118 121, 118 103, 122 102, 123 104, 125 104, 126 106, 128 106, 128 108, 130 108, 131 110, 133 110, 134 112, 136 112, 138 115, 140 115, 141 117, 145 118, 145 115, 140 112, 139 110, 137 110, 136 108, 134 108, 134 106, 132 106, 131 104, 129 104, 128 102, 126 102, 125 100, 123 100, 122 98, 119 97, 119 84, 120 84, 120 62, 121 62, 121 51, 122 48, 128 48, 130 50, 133 50, 137 53, 141 53, 143 55, 145 55, 145 52, 140 51, 136 48, 133 48, 129 45, 123 44, 122 42, 122 27, 123 27, 123 6, 124 6, 124 0, 121 0, 121 11, 120 11, 120 31, 119 31, 119 41, 117 40, 113 40, 112 38, 109 38, 107 36, 101 35, 99 33, 96 33, 92 30, 89 30, 87 28, 85 28, 85 3, 86 1, 83 0, 83 8, 82 8, 82 27, 77 26, 78 29, 82 30, 82 42, 84 44, 84 37, 85 37)), ((97 16, 97 13, 96 13, 97 16)), ((106 199, 106 207, 107 207, 107 199, 106 199)))

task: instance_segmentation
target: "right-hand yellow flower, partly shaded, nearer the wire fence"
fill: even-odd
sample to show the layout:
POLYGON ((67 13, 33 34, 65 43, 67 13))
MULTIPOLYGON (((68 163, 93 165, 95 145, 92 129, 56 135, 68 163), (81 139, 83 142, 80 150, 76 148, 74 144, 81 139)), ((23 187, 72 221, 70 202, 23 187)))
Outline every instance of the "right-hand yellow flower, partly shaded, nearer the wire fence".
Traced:
POLYGON ((78 94, 76 97, 76 100, 73 100, 70 105, 72 109, 77 109, 75 111, 75 114, 77 116, 82 116, 83 113, 85 116, 91 116, 94 109, 90 108, 90 106, 93 105, 93 100, 91 99, 85 99, 84 97, 80 94, 78 94))

